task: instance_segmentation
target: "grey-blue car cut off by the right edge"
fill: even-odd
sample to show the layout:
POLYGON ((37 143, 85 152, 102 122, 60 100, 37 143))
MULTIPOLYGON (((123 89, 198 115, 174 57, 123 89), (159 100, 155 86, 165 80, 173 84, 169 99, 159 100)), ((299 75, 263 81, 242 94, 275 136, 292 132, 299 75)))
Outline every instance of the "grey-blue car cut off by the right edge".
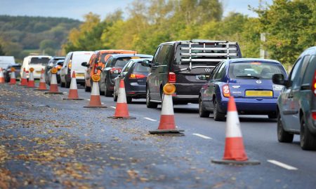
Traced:
POLYGON ((284 85, 277 100, 277 139, 290 143, 300 134, 303 150, 316 150, 316 46, 305 50, 296 60, 289 78, 273 76, 284 85))

